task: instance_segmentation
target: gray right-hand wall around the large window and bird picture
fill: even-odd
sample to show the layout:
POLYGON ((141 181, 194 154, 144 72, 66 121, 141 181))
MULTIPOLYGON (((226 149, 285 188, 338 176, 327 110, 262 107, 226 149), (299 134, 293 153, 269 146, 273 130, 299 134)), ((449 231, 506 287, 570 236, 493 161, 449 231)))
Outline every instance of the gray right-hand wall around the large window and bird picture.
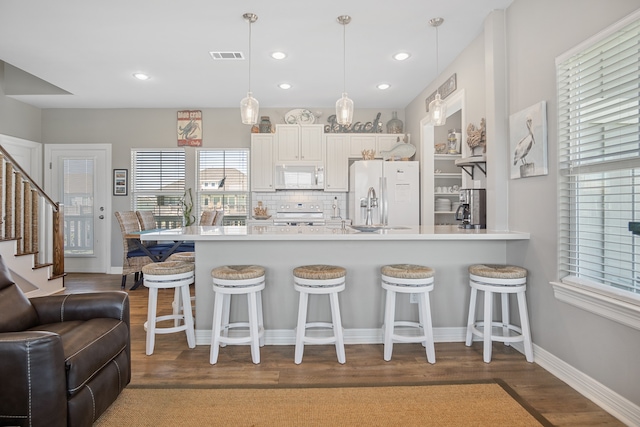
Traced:
MULTIPOLYGON (((640 383, 635 380, 640 331, 559 302, 549 282, 558 279, 555 58, 638 7, 638 0, 515 0, 505 15, 508 114, 547 102, 549 175, 507 182, 509 229, 531 233, 529 242, 509 243, 507 257, 530 272, 527 293, 533 340, 636 405, 640 405, 640 383)), ((458 89, 466 91, 467 123, 477 124, 491 116, 485 107, 492 94, 485 93, 484 41, 484 34, 479 35, 407 106, 407 132, 419 135, 419 122, 426 114, 424 99, 453 73, 457 73, 458 89)), ((487 122, 487 128, 491 126, 497 124, 487 122)), ((500 149, 508 150, 507 141, 487 144, 502 144, 500 149)), ((491 174, 492 168, 509 165, 488 167, 491 174)))

